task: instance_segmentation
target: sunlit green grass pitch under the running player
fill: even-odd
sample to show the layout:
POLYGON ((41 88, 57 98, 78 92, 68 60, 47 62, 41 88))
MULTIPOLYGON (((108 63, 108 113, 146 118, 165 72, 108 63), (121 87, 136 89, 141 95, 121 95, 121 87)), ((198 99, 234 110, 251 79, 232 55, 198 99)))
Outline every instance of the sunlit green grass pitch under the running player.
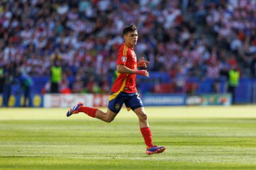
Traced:
POLYGON ((66 112, 0 108, 0 169, 256 169, 256 105, 146 107, 159 155, 125 108, 110 124, 66 112))

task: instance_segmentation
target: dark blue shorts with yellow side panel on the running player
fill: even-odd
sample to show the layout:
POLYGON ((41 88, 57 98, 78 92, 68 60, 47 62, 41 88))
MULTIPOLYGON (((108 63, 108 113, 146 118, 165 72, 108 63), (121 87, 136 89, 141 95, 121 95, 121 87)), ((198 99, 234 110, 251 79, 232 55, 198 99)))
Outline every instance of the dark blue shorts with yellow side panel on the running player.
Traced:
POLYGON ((143 103, 139 97, 139 93, 111 93, 108 101, 108 109, 116 114, 121 110, 123 103, 127 110, 135 110, 143 107, 143 103))

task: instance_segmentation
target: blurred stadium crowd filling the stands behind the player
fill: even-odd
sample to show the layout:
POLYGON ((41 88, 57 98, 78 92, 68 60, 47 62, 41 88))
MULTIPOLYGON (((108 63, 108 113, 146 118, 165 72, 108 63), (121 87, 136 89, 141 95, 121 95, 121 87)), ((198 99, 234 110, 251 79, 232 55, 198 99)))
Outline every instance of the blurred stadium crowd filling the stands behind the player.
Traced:
POLYGON ((255 9, 255 0, 1 1, 1 85, 21 73, 50 76, 57 63, 59 91, 108 92, 129 24, 149 71, 218 79, 237 65, 243 77, 256 77, 255 9))

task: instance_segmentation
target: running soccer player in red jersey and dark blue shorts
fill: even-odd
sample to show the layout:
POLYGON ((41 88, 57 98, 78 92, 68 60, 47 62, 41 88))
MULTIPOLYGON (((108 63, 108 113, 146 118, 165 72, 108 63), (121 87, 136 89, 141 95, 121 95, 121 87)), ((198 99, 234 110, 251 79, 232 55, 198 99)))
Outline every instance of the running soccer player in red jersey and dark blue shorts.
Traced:
POLYGON ((102 112, 96 108, 89 108, 84 103, 79 102, 67 112, 67 117, 84 112, 92 118, 98 118, 104 122, 112 122, 121 110, 123 103, 125 103, 127 110, 133 110, 139 118, 139 127, 147 146, 146 154, 162 153, 166 147, 153 144, 147 114, 135 85, 136 75, 149 77, 148 71, 137 70, 137 67, 147 67, 146 63, 149 62, 143 60, 143 58, 137 62, 136 54, 133 50, 138 38, 135 25, 127 26, 123 29, 123 38, 125 43, 121 45, 117 54, 118 76, 111 89, 107 111, 102 112))

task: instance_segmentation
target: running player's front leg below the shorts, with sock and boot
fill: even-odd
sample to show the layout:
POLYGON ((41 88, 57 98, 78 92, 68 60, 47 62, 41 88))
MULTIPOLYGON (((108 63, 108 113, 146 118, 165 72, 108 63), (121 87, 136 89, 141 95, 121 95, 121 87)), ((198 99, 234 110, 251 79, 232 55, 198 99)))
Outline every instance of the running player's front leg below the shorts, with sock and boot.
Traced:
POLYGON ((144 110, 144 108, 137 108, 134 110, 135 114, 139 118, 139 127, 141 130, 141 134, 144 138, 145 144, 148 146, 146 149, 146 154, 151 155, 154 153, 162 153, 165 151, 165 146, 156 146, 152 142, 152 134, 150 130, 150 126, 148 124, 148 116, 144 110))

